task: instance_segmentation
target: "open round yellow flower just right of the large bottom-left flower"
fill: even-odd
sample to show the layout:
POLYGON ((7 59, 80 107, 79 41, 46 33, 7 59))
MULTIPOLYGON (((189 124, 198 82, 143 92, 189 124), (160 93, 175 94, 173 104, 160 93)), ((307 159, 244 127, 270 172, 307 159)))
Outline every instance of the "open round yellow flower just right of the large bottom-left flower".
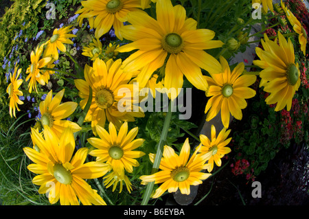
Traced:
POLYGON ((115 174, 124 179, 124 170, 133 172, 133 167, 139 166, 136 159, 145 154, 135 150, 144 143, 144 139, 135 139, 139 128, 133 128, 128 132, 128 123, 124 122, 117 134, 114 124, 110 122, 109 133, 101 126, 97 126, 96 130, 100 138, 91 137, 87 141, 98 149, 91 150, 89 154, 97 157, 97 161, 111 165, 115 174))

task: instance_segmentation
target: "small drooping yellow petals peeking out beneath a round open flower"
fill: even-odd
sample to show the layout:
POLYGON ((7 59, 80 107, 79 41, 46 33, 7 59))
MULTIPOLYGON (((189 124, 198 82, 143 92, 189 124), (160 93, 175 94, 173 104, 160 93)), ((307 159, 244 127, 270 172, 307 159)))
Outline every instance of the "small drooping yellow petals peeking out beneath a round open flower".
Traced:
POLYGON ((106 189, 108 187, 111 187, 111 185, 113 185, 113 192, 115 191, 118 183, 119 183, 119 193, 122 192, 122 187, 124 186, 124 183, 126 184, 126 189, 128 189, 128 192, 131 193, 132 191, 132 183, 130 182, 130 179, 128 178, 128 176, 124 175, 124 178, 121 178, 119 175, 117 175, 116 172, 111 172, 110 174, 108 174, 107 176, 103 177, 104 180, 104 185, 106 187, 106 189), (124 181, 124 183, 122 182, 124 181))

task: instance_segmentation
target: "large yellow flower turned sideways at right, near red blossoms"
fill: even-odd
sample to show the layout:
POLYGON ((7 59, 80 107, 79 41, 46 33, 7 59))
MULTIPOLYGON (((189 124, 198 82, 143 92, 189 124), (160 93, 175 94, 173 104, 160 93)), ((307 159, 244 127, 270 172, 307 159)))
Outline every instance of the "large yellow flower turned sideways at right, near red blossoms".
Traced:
POLYGON ((260 60, 254 60, 253 65, 261 67, 260 77, 264 80, 264 91, 271 93, 266 98, 266 104, 275 104, 275 111, 281 111, 285 106, 290 111, 292 99, 300 86, 300 71, 295 64, 293 43, 278 32, 279 45, 268 38, 261 40, 264 50, 256 47, 260 60))

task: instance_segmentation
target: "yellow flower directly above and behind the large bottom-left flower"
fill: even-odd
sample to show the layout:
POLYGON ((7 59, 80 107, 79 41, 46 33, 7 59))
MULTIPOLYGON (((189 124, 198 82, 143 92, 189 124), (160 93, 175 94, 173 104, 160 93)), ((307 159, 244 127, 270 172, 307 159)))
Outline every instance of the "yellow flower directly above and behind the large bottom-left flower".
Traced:
POLYGON ((67 127, 70 127, 73 132, 78 132, 82 129, 75 122, 65 119, 76 110, 78 104, 76 102, 65 102, 60 104, 64 94, 65 89, 62 89, 52 97, 52 91, 49 91, 45 100, 40 103, 41 119, 39 121, 42 127, 45 128, 45 126, 49 126, 58 137, 61 136, 61 133, 67 127))

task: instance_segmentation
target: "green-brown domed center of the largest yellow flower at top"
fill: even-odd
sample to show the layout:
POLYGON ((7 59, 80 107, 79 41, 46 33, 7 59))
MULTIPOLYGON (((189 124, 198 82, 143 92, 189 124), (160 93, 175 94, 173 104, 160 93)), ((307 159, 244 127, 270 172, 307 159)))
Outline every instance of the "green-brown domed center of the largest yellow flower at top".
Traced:
POLYGON ((179 34, 167 34, 163 38, 162 47, 170 54, 178 54, 183 49, 183 38, 179 34))

